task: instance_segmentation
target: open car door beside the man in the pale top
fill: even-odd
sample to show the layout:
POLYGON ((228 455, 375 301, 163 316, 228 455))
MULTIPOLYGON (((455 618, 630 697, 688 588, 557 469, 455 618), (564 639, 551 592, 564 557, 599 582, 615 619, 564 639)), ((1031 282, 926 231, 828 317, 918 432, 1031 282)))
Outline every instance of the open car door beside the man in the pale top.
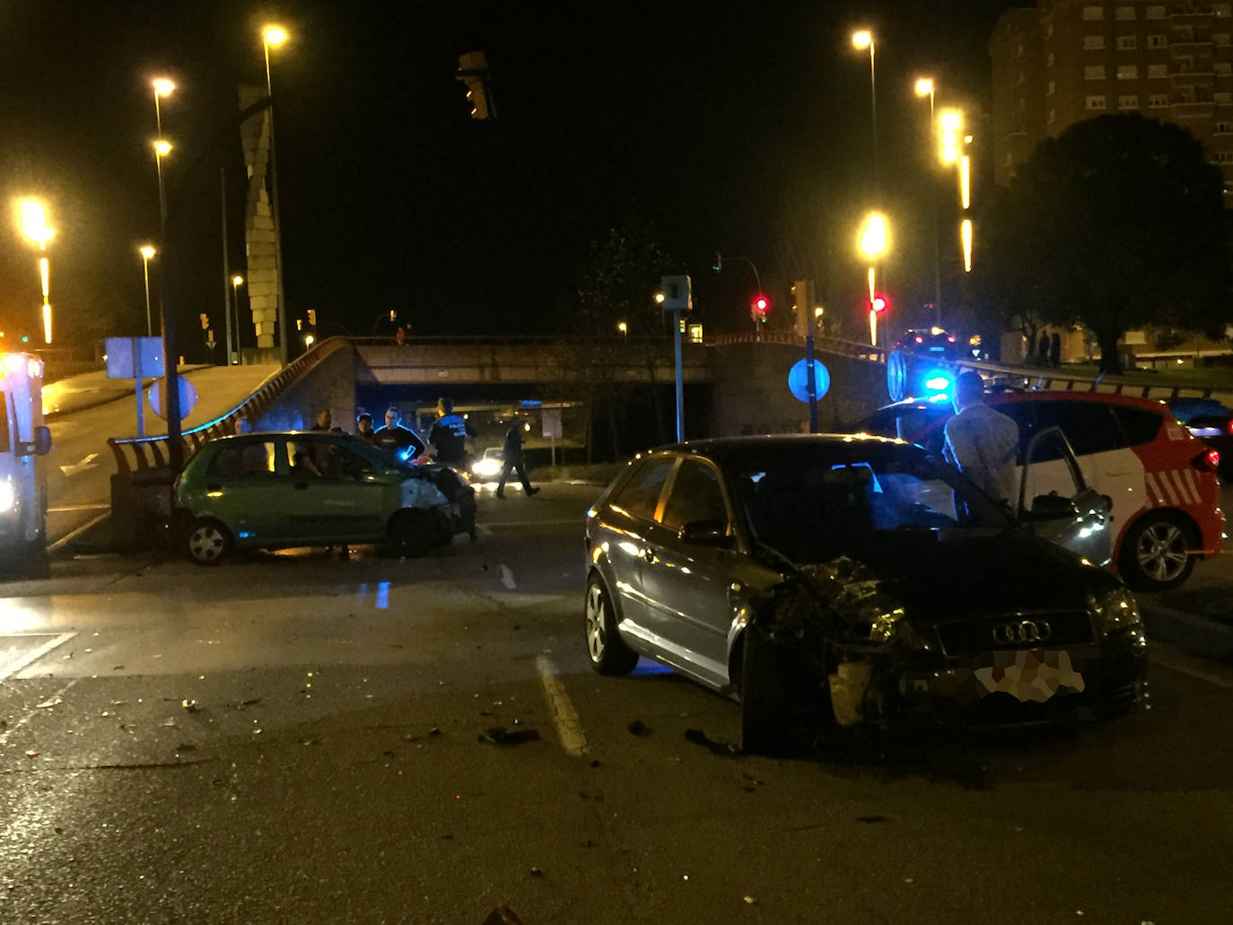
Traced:
POLYGON ((1113 533, 1110 529, 1110 500, 1088 487, 1070 442, 1060 427, 1047 427, 1034 434, 1023 453, 1023 471, 1018 483, 1018 520, 1041 539, 1078 553, 1089 562, 1107 566, 1112 559, 1113 533), (1027 497, 1032 461, 1046 446, 1049 459, 1060 453, 1070 470, 1074 492, 1070 496, 1051 492, 1027 497))

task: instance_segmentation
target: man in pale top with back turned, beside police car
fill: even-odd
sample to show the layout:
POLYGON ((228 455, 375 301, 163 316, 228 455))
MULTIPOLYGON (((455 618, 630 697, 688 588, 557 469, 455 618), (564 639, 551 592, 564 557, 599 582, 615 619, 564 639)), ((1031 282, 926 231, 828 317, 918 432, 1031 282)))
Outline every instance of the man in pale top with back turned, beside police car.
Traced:
POLYGON ((997 501, 1015 507, 1015 458, 1018 424, 984 401, 985 382, 974 370, 954 381, 953 418, 946 422, 942 455, 997 501))

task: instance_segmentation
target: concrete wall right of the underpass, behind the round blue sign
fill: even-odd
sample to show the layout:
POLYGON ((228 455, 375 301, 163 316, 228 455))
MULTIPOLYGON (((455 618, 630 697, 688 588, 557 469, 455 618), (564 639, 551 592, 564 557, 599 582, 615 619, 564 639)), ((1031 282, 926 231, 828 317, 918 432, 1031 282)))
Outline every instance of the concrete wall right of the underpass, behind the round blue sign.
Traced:
MULTIPOLYGON (((788 370, 804 359, 790 344, 730 344, 708 348, 711 390, 708 437, 808 433, 809 406, 788 391, 788 370)), ((835 430, 890 401, 887 368, 854 356, 817 353, 831 387, 817 402, 821 430, 835 430)))

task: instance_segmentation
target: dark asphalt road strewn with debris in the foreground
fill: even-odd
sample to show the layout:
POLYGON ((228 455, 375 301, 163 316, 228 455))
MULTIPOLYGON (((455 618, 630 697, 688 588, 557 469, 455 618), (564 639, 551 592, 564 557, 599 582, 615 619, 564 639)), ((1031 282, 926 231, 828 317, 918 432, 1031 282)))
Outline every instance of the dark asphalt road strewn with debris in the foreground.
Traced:
POLYGON ((894 762, 711 751, 735 703, 587 666, 597 491, 485 493, 420 560, 5 586, 0 921, 1229 921, 1233 672, 1155 646, 1150 710, 894 762))

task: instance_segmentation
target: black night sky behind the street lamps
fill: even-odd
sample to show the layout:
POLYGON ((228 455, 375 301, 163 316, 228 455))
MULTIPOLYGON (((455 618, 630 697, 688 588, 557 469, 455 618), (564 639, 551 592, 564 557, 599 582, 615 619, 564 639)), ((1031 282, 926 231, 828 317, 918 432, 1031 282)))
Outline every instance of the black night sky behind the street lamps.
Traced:
MULTIPOLYGON (((272 20, 292 36, 272 62, 289 311, 316 308, 322 334, 371 333, 391 308, 422 334, 563 329, 589 244, 633 221, 676 257, 665 271, 693 275, 711 332, 748 327, 753 292, 743 264, 711 271, 716 250, 751 258, 783 311, 808 273, 829 314, 857 326, 854 242, 874 194, 868 57, 848 35, 869 25, 895 238, 885 271, 909 321, 932 292, 938 183, 912 80, 935 74, 940 105, 979 120, 986 43, 1012 5, 7 0, 0 186, 51 206, 57 342, 144 333, 136 248, 158 234, 148 81, 171 76, 166 292, 181 353, 200 349, 200 312, 221 338, 219 168, 243 273, 237 88, 264 83, 259 27, 272 20), (491 122, 469 117, 455 80, 472 49, 492 69, 491 122)), ((37 257, 15 217, 0 228, 11 345, 35 333, 37 257)))

